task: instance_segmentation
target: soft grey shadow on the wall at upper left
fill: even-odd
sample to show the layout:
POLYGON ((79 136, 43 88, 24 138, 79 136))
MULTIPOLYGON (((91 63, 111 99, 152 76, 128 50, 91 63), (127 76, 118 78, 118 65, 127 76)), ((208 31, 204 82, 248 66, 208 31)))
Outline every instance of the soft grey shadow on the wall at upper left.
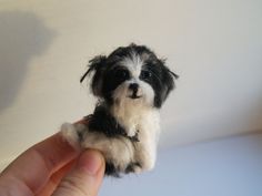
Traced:
POLYGON ((13 103, 30 60, 44 52, 54 34, 33 13, 0 12, 0 112, 13 103))

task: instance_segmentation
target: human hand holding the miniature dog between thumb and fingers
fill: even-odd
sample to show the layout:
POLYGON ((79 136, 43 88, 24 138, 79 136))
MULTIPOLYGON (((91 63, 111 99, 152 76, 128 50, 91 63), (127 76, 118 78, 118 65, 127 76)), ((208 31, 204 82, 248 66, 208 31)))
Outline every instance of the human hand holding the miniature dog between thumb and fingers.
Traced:
POLYGON ((95 196, 104 159, 78 152, 58 133, 30 147, 0 174, 1 196, 95 196))

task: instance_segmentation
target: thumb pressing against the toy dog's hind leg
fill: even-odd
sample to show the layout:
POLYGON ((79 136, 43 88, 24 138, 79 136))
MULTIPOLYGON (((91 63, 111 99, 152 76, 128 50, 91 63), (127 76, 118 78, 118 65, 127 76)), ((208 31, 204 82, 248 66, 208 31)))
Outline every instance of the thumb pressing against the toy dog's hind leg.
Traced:
POLYGON ((95 196, 104 174, 104 159, 101 153, 87 149, 74 168, 66 176, 53 196, 95 196))

